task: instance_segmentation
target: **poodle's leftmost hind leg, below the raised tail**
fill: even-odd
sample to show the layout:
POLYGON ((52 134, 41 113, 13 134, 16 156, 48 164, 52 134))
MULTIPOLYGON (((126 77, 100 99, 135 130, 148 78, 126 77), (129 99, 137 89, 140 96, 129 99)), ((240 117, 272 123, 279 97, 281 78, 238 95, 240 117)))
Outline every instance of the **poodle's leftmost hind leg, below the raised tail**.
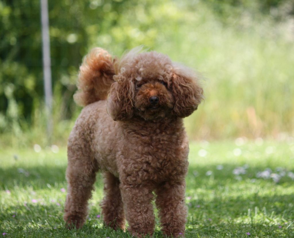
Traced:
POLYGON ((97 161, 91 150, 81 141, 69 141, 66 179, 68 191, 65 202, 64 221, 69 229, 82 227, 87 216, 88 199, 94 189, 97 161))

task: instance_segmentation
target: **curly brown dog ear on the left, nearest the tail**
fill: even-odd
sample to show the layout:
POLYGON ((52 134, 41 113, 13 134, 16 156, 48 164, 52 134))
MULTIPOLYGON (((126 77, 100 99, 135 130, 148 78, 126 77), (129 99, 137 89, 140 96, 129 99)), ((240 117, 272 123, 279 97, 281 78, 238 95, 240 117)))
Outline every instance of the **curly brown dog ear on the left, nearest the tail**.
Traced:
POLYGON ((129 120, 133 116, 134 84, 121 75, 114 76, 106 102, 106 110, 113 120, 129 120))

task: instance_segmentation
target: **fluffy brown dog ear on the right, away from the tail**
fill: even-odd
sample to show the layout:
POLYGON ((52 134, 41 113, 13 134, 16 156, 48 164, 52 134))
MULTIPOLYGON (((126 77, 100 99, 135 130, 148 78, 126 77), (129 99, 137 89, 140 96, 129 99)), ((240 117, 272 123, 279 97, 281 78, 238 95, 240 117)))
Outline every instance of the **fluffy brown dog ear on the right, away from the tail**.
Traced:
POLYGON ((172 91, 175 99, 174 113, 181 118, 191 115, 197 110, 203 100, 203 89, 196 73, 191 69, 174 65, 172 76, 172 91))

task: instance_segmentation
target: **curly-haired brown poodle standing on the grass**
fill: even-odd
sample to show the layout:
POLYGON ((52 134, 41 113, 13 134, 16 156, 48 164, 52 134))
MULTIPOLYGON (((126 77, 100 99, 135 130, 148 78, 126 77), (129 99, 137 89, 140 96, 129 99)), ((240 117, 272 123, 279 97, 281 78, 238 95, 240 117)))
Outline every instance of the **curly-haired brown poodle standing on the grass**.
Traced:
POLYGON ((135 48, 112 59, 101 48, 83 60, 74 98, 85 106, 69 136, 64 220, 79 228, 97 171, 104 173, 106 225, 153 234, 154 198, 164 235, 185 232, 188 140, 184 117, 203 99, 195 73, 157 52, 135 48))

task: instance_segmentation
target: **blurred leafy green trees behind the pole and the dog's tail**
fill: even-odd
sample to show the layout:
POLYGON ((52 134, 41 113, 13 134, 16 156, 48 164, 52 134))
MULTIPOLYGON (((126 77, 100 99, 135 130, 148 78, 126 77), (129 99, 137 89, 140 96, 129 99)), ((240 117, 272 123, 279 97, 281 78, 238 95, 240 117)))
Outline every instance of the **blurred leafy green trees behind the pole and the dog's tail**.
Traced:
MULTIPOLYGON (((50 0, 49 24, 54 100, 59 117, 74 111, 78 65, 91 47, 125 49, 145 44, 151 49, 181 27, 185 12, 171 7, 171 0, 50 0)), ((177 1, 174 1, 177 2, 177 1)), ((212 9, 230 14, 228 6, 262 9, 292 4, 287 0, 209 0, 212 9)), ((177 2, 196 8, 196 1, 177 2)), ((258 11, 258 10, 257 10, 258 11)), ((181 40, 181 37, 175 40, 181 40)), ((43 108, 41 23, 39 0, 0 0, 0 132, 24 120, 29 124, 36 109, 43 108)))

